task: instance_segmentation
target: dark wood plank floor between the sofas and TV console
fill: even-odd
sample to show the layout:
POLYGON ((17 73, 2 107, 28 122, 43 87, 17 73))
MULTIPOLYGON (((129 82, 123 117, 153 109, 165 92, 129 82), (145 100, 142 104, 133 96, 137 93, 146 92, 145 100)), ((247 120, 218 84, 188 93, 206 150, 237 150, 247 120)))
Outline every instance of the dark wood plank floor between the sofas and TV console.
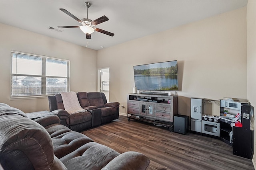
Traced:
POLYGON ((210 137, 169 132, 167 128, 119 119, 82 132, 119 153, 137 151, 150 159, 148 170, 254 170, 252 160, 235 156, 232 147, 210 137))

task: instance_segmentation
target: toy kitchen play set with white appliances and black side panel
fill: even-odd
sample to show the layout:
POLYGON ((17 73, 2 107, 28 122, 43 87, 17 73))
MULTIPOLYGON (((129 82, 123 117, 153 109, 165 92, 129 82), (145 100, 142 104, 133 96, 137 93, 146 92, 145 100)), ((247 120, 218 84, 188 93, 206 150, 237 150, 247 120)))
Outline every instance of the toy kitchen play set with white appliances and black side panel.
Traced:
POLYGON ((233 147, 234 155, 251 159, 251 106, 248 102, 234 98, 224 99, 215 101, 191 98, 190 130, 192 133, 220 139, 233 147), (211 113, 209 107, 213 103, 220 106, 220 112, 211 113))

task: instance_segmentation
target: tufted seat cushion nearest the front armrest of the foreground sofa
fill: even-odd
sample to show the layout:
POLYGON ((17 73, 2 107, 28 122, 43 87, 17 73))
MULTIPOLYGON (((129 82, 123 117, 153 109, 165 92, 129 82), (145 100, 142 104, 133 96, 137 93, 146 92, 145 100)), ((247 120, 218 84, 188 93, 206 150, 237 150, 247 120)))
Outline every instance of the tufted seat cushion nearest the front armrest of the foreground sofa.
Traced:
POLYGON ((118 155, 120 155, 118 152, 109 147, 90 142, 60 160, 68 169, 100 170, 118 155))

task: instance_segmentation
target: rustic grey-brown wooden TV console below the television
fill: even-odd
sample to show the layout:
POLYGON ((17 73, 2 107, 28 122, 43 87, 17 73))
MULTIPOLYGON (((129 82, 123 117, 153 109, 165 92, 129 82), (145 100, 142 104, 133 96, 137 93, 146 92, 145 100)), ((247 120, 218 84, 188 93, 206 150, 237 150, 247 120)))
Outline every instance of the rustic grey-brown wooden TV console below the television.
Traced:
POLYGON ((178 96, 168 94, 128 94, 128 121, 136 119, 173 131, 173 117, 178 113, 178 96))

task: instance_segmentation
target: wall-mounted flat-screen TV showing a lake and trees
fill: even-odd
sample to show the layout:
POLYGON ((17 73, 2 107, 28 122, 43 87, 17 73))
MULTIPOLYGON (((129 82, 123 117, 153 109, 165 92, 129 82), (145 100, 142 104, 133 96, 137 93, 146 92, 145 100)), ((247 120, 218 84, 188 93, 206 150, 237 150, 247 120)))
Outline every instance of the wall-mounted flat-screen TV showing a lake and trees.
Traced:
POLYGON ((178 91, 178 62, 133 66, 137 90, 178 91))

